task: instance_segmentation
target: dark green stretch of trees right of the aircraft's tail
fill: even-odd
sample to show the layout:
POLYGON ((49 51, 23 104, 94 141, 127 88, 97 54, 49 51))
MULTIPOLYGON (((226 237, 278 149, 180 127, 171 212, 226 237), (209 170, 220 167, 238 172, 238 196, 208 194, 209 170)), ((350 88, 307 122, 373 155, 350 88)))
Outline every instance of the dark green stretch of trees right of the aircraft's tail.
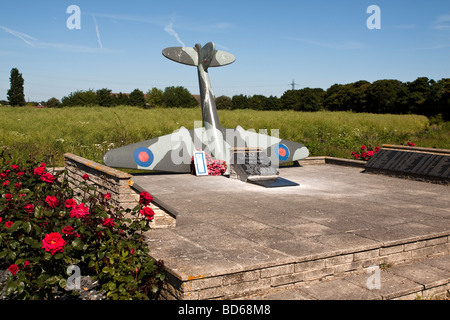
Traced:
POLYGON ((412 82, 377 80, 334 84, 327 90, 288 90, 280 97, 262 95, 216 98, 218 109, 295 111, 352 111, 368 113, 441 115, 450 120, 450 79, 419 77, 412 82))

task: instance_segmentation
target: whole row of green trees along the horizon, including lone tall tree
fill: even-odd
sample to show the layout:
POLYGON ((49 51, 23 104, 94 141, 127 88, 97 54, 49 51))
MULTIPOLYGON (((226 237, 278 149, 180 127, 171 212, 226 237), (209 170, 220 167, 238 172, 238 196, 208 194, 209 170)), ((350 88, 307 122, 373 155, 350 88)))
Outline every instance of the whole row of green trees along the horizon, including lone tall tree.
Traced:
MULTIPOLYGON (((25 105, 23 77, 16 68, 11 70, 11 89, 8 100, 11 105, 25 105)), ((1 101, 0 101, 1 103, 1 101)), ((103 88, 97 91, 78 90, 61 101, 51 98, 43 101, 47 107, 95 106, 113 107, 131 105, 152 107, 197 107, 198 101, 184 87, 152 88, 144 94, 135 89, 130 94, 112 93, 103 88)), ((422 114, 440 116, 450 120, 450 78, 435 81, 419 77, 412 82, 399 80, 365 80, 334 84, 327 90, 303 88, 287 90, 278 98, 263 95, 234 95, 216 98, 218 109, 295 110, 295 111, 352 111, 368 113, 422 114)))

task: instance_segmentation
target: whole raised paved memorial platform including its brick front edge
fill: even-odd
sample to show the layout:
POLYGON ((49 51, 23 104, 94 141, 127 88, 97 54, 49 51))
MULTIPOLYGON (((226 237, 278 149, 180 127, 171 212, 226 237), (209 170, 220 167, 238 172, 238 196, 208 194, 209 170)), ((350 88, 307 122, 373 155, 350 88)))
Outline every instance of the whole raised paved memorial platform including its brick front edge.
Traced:
POLYGON ((331 164, 280 168, 280 176, 299 186, 190 174, 132 178, 178 213, 175 228, 147 233, 151 256, 168 272, 163 298, 287 294, 348 275, 364 280, 371 266, 449 255, 448 186, 331 164))

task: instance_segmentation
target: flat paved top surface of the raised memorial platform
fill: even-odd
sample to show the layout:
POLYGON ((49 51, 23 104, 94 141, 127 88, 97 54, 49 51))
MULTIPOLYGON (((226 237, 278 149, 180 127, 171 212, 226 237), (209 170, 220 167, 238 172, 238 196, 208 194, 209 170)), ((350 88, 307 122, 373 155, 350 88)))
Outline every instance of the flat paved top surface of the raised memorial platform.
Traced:
MULTIPOLYGON (((448 241, 448 186, 329 164, 279 171, 299 186, 266 189, 226 177, 134 175, 135 184, 178 213, 175 228, 147 234, 150 254, 187 281, 371 250, 403 261, 411 254, 396 253, 394 246, 448 241)), ((448 251, 448 242, 441 246, 448 251)), ((433 253, 430 248, 422 248, 424 254, 433 253)))

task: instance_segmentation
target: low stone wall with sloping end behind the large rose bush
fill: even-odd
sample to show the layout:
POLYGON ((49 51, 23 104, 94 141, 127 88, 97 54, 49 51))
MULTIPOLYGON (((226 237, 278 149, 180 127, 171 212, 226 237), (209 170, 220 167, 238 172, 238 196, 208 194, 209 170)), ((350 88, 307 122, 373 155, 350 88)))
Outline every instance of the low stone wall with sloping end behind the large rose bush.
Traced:
MULTIPOLYGON (((91 192, 109 193, 111 203, 124 209, 133 209, 137 205, 142 190, 134 184, 131 179, 132 175, 71 153, 64 154, 64 166, 67 172, 66 179, 76 193, 84 192, 79 189, 78 185, 85 181, 83 176, 87 174, 89 175, 88 185, 95 187, 95 191, 91 192)), ((80 197, 83 195, 80 194, 78 200, 80 197)), ((167 206, 160 203, 155 197, 153 198, 150 207, 155 212, 155 217, 150 227, 153 229, 175 227, 176 213, 170 212, 167 206)))

